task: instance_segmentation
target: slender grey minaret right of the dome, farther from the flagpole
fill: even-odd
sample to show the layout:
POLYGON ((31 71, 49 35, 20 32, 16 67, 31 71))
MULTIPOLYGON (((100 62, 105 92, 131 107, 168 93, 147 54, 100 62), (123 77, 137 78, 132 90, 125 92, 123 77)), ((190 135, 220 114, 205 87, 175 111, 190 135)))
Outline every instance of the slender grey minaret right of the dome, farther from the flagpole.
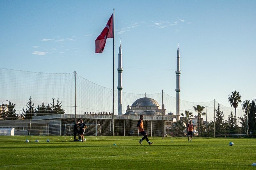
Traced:
POLYGON ((179 43, 177 50, 177 70, 176 73, 176 115, 180 115, 180 51, 179 51, 179 43))

